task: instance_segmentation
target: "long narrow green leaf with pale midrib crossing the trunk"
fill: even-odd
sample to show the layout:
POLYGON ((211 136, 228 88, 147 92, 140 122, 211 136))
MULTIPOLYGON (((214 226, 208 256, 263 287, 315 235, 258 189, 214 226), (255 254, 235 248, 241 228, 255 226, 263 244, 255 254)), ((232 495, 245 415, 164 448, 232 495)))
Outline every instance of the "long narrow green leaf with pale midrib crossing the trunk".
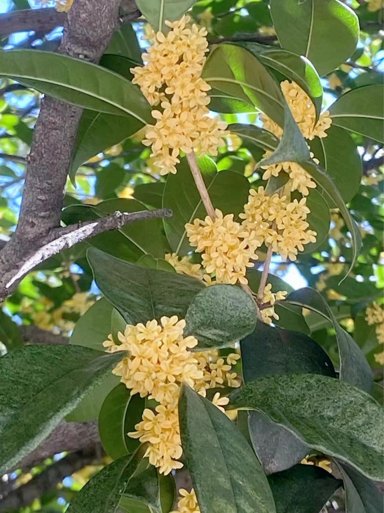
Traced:
POLYGON ((151 123, 151 106, 140 90, 110 70, 68 55, 12 50, 0 55, 0 75, 65 102, 151 123))

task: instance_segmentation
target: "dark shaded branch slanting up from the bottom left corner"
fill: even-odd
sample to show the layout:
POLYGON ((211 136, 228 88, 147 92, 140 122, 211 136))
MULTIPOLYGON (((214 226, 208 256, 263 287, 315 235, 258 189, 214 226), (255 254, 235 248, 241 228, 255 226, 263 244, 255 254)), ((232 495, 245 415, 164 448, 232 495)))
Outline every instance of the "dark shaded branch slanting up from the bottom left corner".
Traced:
POLYGON ((0 500, 0 512, 30 505, 34 499, 54 489, 57 483, 65 477, 71 476, 73 472, 93 463, 100 454, 101 447, 99 450, 95 450, 95 448, 79 450, 53 463, 27 484, 11 490, 4 499, 0 500))

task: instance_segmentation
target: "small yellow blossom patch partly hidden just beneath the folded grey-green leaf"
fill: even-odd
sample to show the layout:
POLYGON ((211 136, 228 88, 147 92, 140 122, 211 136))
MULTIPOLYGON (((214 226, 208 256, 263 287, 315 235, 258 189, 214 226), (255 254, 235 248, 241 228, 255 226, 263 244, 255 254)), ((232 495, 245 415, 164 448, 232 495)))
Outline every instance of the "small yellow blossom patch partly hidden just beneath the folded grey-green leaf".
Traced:
MULTIPOLYGON (((271 150, 267 150, 263 159, 272 155, 271 150)), ((318 164, 319 161, 313 158, 313 153, 310 153, 311 159, 318 164)), ((280 162, 279 164, 272 164, 271 166, 261 166, 266 171, 263 174, 263 180, 268 180, 270 176, 279 176, 280 171, 285 171, 289 175, 289 189, 290 191, 298 190, 303 196, 308 196, 309 189, 315 189, 316 183, 311 180, 311 175, 297 162, 280 162)))

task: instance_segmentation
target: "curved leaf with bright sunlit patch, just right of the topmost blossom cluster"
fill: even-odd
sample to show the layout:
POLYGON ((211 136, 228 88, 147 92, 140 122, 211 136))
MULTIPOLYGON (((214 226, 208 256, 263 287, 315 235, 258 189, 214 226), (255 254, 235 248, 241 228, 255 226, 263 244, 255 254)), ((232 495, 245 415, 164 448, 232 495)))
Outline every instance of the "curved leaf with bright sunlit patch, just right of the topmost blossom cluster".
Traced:
MULTIPOLYGON (((265 112, 278 125, 284 122, 284 97, 269 71, 250 52, 237 45, 219 45, 208 56, 202 77, 212 87, 210 108, 215 99, 237 100, 265 112)), ((231 110, 232 111, 232 110, 231 110)))

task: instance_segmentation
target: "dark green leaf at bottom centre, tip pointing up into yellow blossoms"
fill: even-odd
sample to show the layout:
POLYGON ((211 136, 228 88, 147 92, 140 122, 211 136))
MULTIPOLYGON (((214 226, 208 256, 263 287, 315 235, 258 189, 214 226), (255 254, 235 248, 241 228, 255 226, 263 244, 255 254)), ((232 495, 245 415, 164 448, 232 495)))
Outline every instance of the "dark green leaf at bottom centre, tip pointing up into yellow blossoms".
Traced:
POLYGON ((201 513, 275 511, 258 459, 224 413, 184 385, 179 419, 186 465, 201 513))

